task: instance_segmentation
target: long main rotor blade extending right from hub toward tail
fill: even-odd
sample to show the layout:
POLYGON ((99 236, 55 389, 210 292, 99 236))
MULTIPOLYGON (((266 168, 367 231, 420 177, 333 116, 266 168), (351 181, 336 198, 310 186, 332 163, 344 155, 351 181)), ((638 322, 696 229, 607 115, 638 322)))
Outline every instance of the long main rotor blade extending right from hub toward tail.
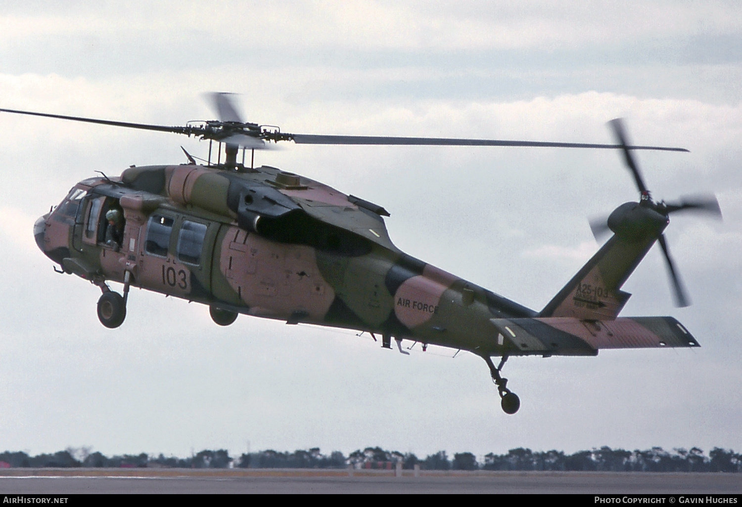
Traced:
POLYGON ((525 146, 543 148, 607 148, 631 150, 688 151, 663 146, 595 145, 584 142, 505 141, 502 139, 456 139, 441 137, 327 136, 285 134, 298 145, 393 145, 393 146, 525 146))

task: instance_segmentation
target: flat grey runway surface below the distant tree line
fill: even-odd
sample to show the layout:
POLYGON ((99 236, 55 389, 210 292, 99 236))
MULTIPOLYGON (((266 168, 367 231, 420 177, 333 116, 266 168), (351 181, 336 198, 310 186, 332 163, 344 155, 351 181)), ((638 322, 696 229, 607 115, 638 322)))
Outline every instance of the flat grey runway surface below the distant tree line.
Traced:
POLYGON ((191 468, 6 468, 0 494, 742 494, 742 474, 191 468))

